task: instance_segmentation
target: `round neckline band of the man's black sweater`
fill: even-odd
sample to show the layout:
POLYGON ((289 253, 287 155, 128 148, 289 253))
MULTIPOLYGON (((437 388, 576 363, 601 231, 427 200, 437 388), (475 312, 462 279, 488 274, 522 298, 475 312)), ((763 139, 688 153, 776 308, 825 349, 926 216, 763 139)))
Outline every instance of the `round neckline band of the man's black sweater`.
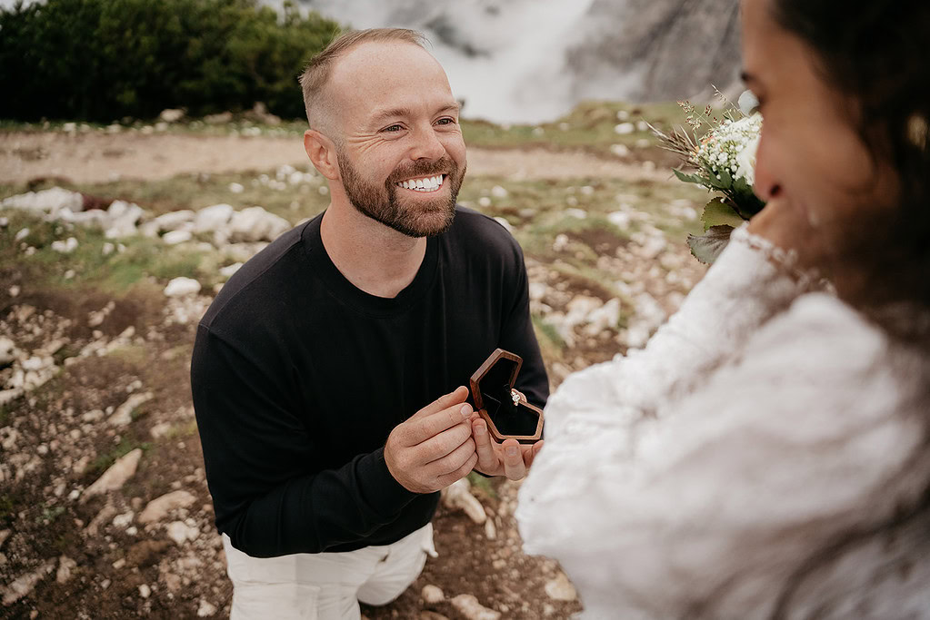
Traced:
POLYGON ((417 270, 417 275, 403 291, 397 293, 395 297, 379 297, 362 291, 352 284, 348 278, 342 275, 342 272, 339 271, 339 268, 329 257, 320 233, 324 213, 320 213, 307 223, 307 226, 304 227, 300 234, 300 239, 310 263, 312 274, 320 278, 330 293, 341 303, 349 305, 363 314, 389 315, 404 312, 407 308, 416 304, 430 290, 435 279, 436 268, 439 265, 439 239, 435 237, 426 239, 426 252, 417 270))

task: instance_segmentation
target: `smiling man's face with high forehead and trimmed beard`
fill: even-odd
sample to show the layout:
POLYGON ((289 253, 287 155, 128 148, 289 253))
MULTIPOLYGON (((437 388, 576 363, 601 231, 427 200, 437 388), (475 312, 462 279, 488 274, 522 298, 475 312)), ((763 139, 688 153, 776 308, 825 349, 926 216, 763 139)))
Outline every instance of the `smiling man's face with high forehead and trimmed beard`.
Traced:
POLYGON ((339 58, 326 88, 352 205, 409 237, 451 226, 465 143, 439 63, 418 45, 363 44, 339 58))

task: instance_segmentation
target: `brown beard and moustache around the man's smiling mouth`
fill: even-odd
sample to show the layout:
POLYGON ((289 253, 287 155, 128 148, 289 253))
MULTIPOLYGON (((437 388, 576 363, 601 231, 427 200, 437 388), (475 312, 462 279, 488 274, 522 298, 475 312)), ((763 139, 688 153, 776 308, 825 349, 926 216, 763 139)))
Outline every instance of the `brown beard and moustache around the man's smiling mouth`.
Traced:
POLYGON ((456 162, 447 155, 436 161, 415 161, 409 166, 398 168, 388 176, 383 187, 363 178, 341 149, 337 156, 342 187, 359 213, 414 238, 435 237, 452 226, 458 189, 465 176, 465 169, 459 170, 456 162), (436 174, 446 175, 445 183, 449 184, 448 200, 432 200, 416 207, 404 205, 397 200, 397 183, 408 178, 436 174))

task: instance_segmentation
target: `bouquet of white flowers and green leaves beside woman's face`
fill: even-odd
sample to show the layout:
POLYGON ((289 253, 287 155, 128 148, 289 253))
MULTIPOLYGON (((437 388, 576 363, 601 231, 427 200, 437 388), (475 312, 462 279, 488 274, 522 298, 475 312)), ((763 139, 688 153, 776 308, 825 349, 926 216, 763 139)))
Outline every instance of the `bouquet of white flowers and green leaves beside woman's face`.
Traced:
POLYGON ((755 153, 759 147, 762 116, 754 113, 755 97, 747 91, 733 106, 717 91, 726 108, 721 118, 711 116, 711 106, 701 112, 688 101, 679 101, 687 114, 684 127, 671 134, 659 131, 659 145, 682 157, 683 167, 674 170, 685 183, 706 187, 717 196, 704 207, 704 234, 688 235, 691 253, 702 263, 712 263, 723 251, 730 233, 765 206, 753 192, 755 153), (703 129, 703 133, 698 133, 703 129))

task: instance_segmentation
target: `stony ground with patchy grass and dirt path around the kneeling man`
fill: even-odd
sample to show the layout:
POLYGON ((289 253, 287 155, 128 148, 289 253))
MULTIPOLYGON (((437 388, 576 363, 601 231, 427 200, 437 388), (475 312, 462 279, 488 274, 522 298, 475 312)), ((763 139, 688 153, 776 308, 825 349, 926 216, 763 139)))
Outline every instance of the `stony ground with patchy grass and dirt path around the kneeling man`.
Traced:
MULTIPOLYGON (((283 136, 88 135, 68 161, 56 144, 80 136, 0 134, 0 616, 223 617, 232 588, 191 406, 194 326, 239 265, 326 206, 326 186, 282 154, 283 136), (230 157, 213 166, 193 149, 230 157)), ((498 149, 470 162, 462 201, 525 248, 553 386, 642 346, 703 274, 684 245, 703 196, 653 161, 498 149)), ((558 565, 521 551, 517 488, 450 488, 439 557, 365 615, 577 612, 558 565)))

